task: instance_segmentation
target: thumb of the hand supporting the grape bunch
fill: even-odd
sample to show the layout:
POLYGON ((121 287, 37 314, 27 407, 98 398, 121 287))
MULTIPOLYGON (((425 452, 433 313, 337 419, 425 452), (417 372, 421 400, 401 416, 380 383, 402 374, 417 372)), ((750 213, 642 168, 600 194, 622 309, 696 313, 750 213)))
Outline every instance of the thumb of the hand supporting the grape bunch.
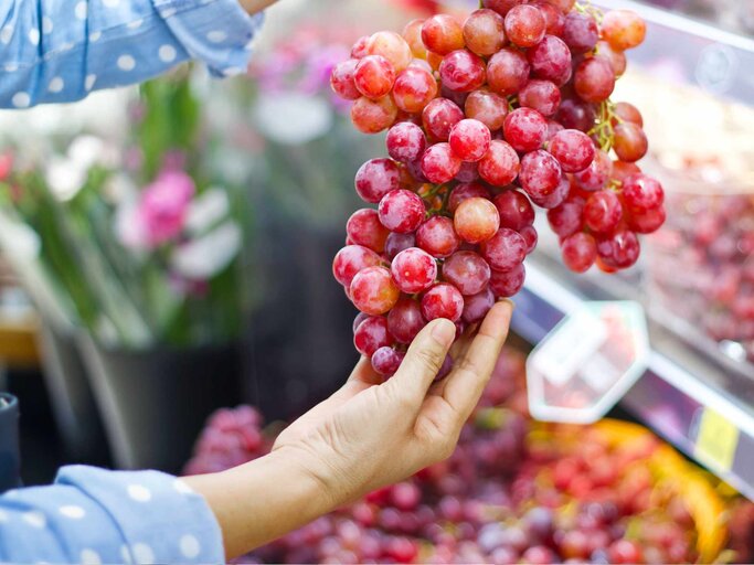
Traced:
POLYGON ((438 319, 427 323, 414 338, 401 369, 385 383, 394 397, 407 398, 418 408, 455 337, 456 327, 450 320, 438 319))

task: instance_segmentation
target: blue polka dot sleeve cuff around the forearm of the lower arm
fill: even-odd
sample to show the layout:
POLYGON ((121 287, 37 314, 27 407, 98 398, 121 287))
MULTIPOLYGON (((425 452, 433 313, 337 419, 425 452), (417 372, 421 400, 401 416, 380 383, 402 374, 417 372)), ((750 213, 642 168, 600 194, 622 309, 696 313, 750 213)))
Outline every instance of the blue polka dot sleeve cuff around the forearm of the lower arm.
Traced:
POLYGON ((0 497, 2 563, 225 563, 202 497, 157 471, 64 467, 0 497))

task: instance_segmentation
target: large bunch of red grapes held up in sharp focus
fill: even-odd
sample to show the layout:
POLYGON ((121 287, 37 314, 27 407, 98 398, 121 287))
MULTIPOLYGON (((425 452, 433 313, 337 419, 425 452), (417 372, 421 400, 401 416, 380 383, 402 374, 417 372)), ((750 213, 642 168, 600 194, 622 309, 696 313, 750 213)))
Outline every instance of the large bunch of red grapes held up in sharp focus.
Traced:
POLYGON ((574 0, 482 4, 465 22, 437 14, 361 38, 332 71, 355 127, 387 130, 390 158, 355 177, 378 206, 350 217, 333 262, 362 312, 355 348, 385 376, 428 321, 460 334, 521 289, 534 205, 577 273, 630 267, 637 234, 665 221, 662 188, 635 164, 641 115, 609 100, 645 22, 574 0))

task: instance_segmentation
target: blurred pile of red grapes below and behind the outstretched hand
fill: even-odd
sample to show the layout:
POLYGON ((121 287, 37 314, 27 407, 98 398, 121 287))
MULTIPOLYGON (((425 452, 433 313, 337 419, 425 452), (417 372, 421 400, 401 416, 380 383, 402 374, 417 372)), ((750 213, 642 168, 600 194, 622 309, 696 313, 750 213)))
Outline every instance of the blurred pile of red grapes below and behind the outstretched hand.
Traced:
MULTIPOLYGON (((693 563, 697 524, 681 467, 658 476, 652 434, 606 440, 597 426, 527 414, 524 358, 501 355, 455 454, 415 477, 240 559, 244 563, 693 563)), ((619 424, 616 424, 619 426, 619 424)), ((188 473, 255 459, 272 445, 249 407, 214 415, 188 473)), ((270 434, 270 436, 274 434, 270 434)), ((668 465, 663 463, 663 467, 668 465)), ((711 488, 711 487, 710 487, 711 488)), ((694 500, 702 495, 697 493, 694 500)), ((722 509, 710 516, 720 520, 722 509)), ((728 511, 729 547, 752 555, 754 505, 728 511)), ((724 526, 714 522, 716 531, 724 526)))

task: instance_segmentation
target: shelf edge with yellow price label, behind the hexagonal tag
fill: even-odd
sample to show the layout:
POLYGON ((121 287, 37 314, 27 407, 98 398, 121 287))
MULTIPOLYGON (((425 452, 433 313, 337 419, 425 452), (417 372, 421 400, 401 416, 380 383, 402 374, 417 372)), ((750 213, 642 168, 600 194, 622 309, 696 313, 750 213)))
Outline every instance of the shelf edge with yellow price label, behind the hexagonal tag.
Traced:
MULTIPOLYGON (((512 321, 514 332, 532 344, 584 300, 615 298, 614 292, 586 279, 563 282, 570 277, 545 257, 535 254, 532 259, 527 264, 527 284, 516 298, 512 321)), ((661 324, 649 326, 649 367, 622 404, 754 500, 754 375, 729 371, 661 324)))

